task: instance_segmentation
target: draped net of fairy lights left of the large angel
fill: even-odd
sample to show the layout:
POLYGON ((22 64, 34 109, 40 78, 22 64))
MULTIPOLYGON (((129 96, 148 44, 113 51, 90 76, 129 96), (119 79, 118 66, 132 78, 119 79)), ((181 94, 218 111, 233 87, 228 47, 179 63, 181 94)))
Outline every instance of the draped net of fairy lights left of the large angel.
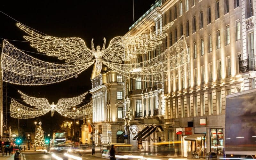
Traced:
POLYGON ((2 48, 3 81, 20 85, 42 85, 64 81, 77 76, 94 62, 80 65, 44 62, 20 51, 4 40, 2 48))

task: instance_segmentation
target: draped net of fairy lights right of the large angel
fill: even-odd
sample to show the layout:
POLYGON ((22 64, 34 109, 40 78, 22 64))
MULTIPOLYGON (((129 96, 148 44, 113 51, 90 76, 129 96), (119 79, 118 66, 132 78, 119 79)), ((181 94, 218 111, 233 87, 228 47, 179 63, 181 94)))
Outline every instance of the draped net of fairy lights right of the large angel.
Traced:
POLYGON ((188 76, 189 54, 184 37, 151 60, 140 63, 116 64, 103 61, 103 64, 128 78, 141 81, 161 82, 188 76), (170 72, 168 74, 168 72, 170 72))

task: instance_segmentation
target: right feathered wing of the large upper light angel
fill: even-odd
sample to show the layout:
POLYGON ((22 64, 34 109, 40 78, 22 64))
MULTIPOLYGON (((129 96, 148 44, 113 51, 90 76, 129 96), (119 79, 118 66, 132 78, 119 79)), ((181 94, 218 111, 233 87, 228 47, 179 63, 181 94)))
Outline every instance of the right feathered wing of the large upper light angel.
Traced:
POLYGON ((172 25, 173 22, 170 22, 164 27, 152 29, 148 33, 137 36, 128 35, 129 32, 124 36, 117 36, 110 41, 108 48, 102 51, 102 56, 105 60, 122 63, 122 61, 136 58, 139 54, 156 50, 156 47, 162 44, 163 39, 167 36, 165 31, 172 25))

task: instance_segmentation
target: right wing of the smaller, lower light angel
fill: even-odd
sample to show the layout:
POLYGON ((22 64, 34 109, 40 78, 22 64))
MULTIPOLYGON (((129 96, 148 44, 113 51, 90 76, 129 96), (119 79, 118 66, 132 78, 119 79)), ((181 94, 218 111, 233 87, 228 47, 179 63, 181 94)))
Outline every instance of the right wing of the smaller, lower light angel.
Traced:
POLYGON ((80 96, 73 97, 73 98, 62 98, 56 104, 56 108, 65 110, 65 109, 69 109, 71 107, 75 107, 76 105, 78 105, 82 102, 82 100, 85 98, 85 95, 87 93, 88 92, 85 92, 85 93, 81 94, 80 96))

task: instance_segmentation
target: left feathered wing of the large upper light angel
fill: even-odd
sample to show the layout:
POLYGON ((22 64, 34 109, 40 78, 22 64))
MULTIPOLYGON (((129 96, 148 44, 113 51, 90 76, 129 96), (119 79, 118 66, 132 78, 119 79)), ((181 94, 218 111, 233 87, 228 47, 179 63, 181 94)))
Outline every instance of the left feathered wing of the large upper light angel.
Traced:
POLYGON ((24 36, 24 38, 39 52, 46 53, 48 56, 56 56, 58 59, 65 60, 68 63, 75 62, 80 64, 92 60, 93 53, 81 38, 43 36, 21 23, 17 23, 17 26, 29 35, 24 36))

